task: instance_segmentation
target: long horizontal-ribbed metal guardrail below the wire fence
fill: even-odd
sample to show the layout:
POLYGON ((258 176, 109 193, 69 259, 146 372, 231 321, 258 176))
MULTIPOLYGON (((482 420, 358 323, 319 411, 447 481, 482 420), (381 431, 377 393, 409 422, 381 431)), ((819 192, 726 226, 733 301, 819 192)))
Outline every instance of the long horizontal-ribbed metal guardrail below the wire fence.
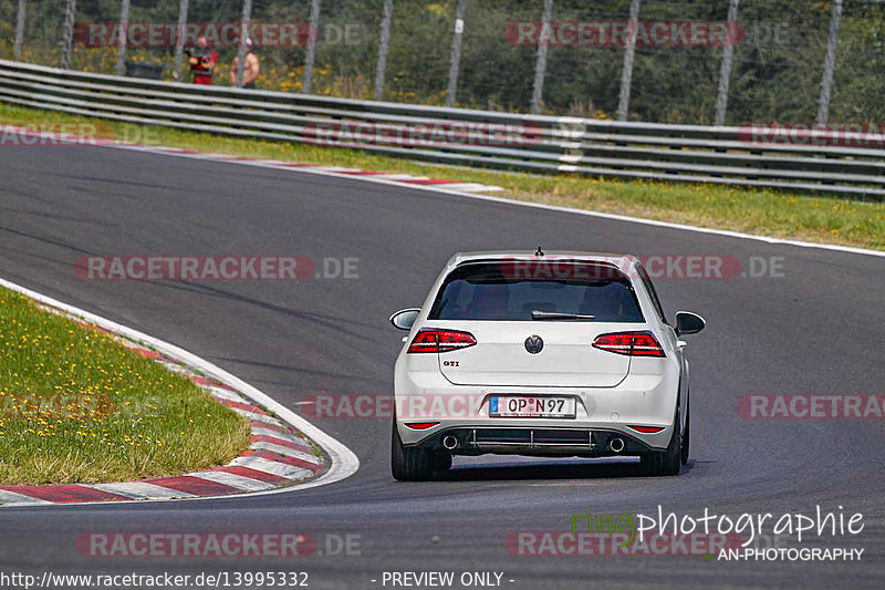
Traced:
POLYGON ((741 127, 530 116, 199 86, 0 60, 0 102, 445 164, 885 196, 885 149, 756 144, 741 127))

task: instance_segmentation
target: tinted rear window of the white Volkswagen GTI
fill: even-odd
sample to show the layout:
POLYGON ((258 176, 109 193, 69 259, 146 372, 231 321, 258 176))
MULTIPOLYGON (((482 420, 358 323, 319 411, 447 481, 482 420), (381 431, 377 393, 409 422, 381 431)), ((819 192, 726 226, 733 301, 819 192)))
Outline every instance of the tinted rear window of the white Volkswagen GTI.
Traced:
POLYGON ((431 320, 532 320, 532 311, 593 315, 579 321, 643 322, 629 279, 610 265, 481 262, 446 277, 431 320))

